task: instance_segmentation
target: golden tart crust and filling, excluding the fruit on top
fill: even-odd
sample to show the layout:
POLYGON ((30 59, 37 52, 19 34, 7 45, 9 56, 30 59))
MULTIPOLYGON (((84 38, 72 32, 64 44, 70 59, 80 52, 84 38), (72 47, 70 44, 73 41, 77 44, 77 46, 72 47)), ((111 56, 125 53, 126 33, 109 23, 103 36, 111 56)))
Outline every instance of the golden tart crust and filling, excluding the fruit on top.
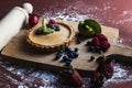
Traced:
MULTIPOLYGON (((50 34, 35 34, 36 31, 42 28, 42 21, 43 19, 41 18, 40 22, 28 33, 26 40, 32 46, 45 52, 55 52, 68 46, 75 37, 73 28, 62 21, 56 21, 56 24, 61 29, 59 31, 50 34)), ((48 23, 48 20, 46 20, 46 23, 48 23)))

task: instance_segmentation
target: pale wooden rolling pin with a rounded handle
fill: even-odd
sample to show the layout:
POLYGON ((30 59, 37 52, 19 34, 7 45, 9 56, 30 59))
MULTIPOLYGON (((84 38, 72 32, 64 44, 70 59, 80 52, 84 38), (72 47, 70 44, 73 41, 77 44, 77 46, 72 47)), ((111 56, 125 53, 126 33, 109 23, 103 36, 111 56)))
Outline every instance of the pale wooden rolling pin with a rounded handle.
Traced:
POLYGON ((23 3, 23 7, 14 7, 0 21, 0 51, 8 42, 18 34, 24 23, 29 21, 29 14, 33 12, 31 3, 23 3))

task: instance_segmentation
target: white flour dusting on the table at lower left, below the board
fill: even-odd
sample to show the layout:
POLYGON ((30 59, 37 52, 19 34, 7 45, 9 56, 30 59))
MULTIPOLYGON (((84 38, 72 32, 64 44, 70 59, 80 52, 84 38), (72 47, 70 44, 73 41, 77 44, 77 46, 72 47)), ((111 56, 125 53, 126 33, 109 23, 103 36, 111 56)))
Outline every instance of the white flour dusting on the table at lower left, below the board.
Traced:
POLYGON ((10 72, 9 75, 4 74, 6 78, 18 88, 54 88, 54 82, 58 80, 56 75, 35 68, 6 66, 4 63, 1 66, 10 72))

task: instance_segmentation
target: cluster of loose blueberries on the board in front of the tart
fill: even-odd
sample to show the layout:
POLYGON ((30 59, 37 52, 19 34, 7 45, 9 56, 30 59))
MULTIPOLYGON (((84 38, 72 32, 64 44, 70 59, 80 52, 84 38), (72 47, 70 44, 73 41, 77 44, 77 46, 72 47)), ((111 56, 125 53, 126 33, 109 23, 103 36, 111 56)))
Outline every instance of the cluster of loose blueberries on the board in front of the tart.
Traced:
POLYGON ((79 56, 78 48, 76 47, 72 51, 70 47, 66 46, 64 51, 57 52, 55 59, 59 59, 62 56, 63 61, 66 62, 66 65, 70 66, 73 58, 77 58, 79 56), (63 56, 63 54, 65 55, 63 56))

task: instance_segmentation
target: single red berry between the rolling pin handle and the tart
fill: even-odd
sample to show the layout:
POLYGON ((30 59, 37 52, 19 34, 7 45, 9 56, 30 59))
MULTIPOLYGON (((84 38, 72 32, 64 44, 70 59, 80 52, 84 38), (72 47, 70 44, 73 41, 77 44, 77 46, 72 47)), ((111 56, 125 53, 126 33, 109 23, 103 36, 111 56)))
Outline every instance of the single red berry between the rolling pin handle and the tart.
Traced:
POLYGON ((38 16, 36 14, 30 14, 29 24, 31 28, 38 23, 38 16))

